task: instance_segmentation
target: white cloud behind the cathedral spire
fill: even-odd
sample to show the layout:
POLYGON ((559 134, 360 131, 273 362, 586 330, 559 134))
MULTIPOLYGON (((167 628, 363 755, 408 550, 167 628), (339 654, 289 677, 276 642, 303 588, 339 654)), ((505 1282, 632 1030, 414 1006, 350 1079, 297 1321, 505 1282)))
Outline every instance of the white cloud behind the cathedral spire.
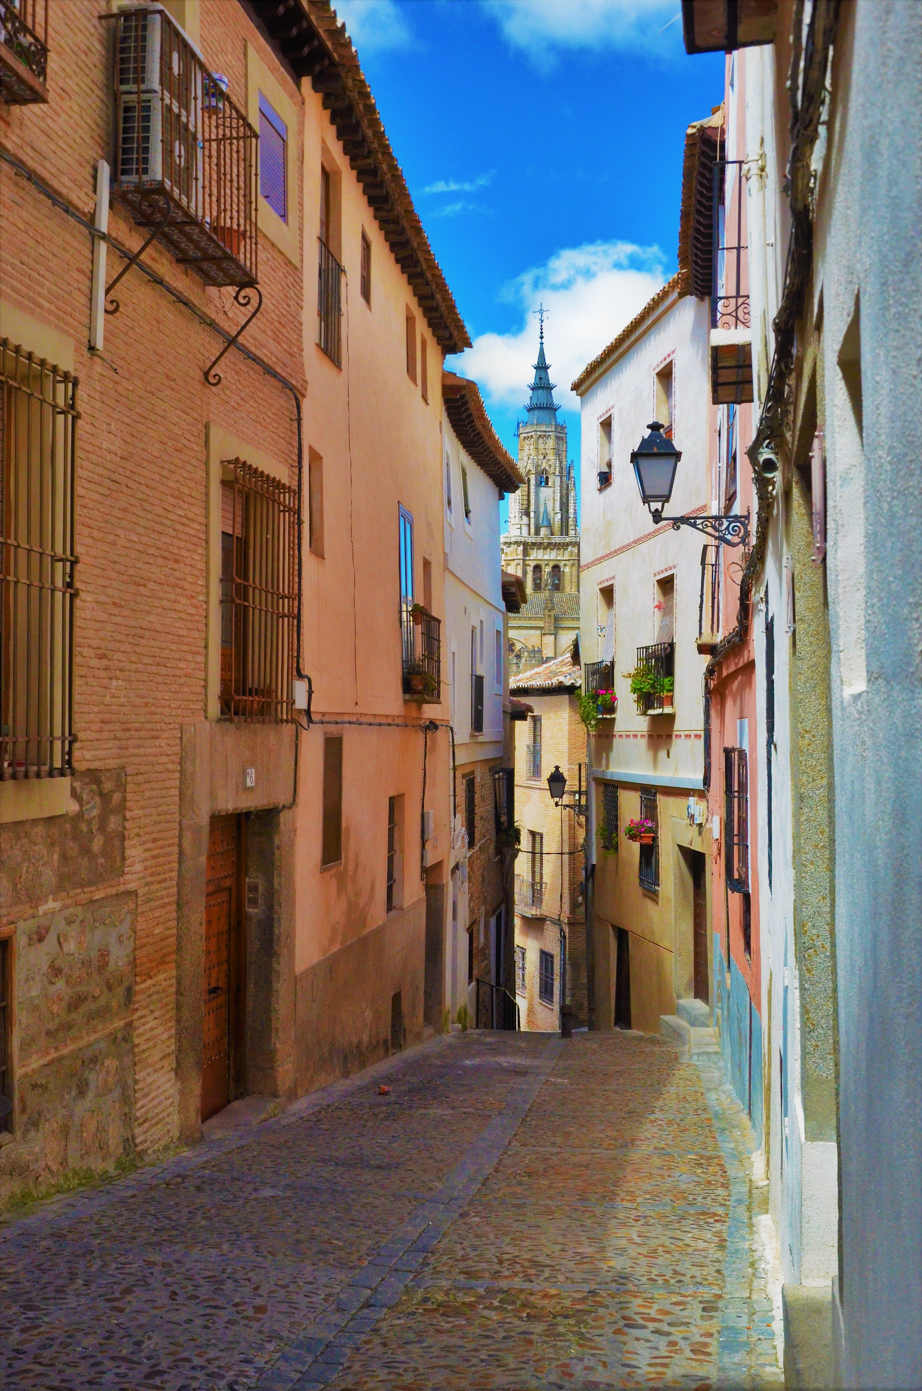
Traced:
POLYGON ((570 383, 630 323, 665 282, 658 246, 594 242, 556 252, 526 271, 503 292, 521 307, 521 327, 509 334, 480 334, 452 370, 473 377, 484 395, 502 406, 521 406, 538 351, 540 303, 548 310, 544 330, 555 399, 579 410, 570 383))

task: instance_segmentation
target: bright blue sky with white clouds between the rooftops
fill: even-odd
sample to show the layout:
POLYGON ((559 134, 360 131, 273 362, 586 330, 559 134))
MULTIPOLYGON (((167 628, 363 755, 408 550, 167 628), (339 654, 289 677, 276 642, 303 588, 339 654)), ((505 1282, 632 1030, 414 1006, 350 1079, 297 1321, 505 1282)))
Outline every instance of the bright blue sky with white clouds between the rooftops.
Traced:
POLYGON ((723 95, 723 54, 690 58, 679 0, 341 0, 394 152, 515 453, 545 345, 569 385, 676 268, 686 127, 723 95))

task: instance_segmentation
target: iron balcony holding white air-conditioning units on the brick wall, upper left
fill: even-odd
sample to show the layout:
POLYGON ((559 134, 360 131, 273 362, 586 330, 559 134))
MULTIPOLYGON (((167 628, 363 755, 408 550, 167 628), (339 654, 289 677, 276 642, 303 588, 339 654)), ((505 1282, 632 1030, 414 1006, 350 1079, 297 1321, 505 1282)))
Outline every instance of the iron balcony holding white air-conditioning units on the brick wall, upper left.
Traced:
POLYGON ((113 22, 113 195, 207 285, 254 285, 259 136, 163 10, 113 22))

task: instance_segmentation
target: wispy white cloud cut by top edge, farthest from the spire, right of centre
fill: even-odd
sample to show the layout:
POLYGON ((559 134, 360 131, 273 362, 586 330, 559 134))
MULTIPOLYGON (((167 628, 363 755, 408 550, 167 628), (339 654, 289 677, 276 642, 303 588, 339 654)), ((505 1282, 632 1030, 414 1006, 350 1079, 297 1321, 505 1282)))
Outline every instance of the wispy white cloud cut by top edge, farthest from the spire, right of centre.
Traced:
MULTIPOLYGON (((562 49, 674 51, 679 0, 481 0, 515 49, 547 71, 562 49)), ((679 35, 679 38, 676 38, 679 35)))

